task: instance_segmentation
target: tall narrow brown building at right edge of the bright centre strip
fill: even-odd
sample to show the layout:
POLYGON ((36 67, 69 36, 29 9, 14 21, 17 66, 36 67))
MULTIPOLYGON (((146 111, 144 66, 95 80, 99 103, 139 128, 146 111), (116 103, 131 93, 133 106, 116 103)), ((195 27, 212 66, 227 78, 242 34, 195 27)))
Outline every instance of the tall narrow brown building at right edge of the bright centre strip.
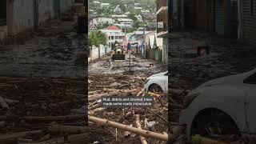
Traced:
MULTIPOLYGON (((162 38, 162 49, 157 49, 159 62, 168 63, 168 0, 157 1, 157 38, 162 38)), ((156 54, 156 53, 154 53, 156 54)))

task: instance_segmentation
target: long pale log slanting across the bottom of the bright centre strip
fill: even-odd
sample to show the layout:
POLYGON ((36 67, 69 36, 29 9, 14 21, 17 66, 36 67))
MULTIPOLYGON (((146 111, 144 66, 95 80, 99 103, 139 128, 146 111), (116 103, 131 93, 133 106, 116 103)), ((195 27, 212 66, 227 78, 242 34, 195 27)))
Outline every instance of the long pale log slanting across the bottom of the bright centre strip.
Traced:
POLYGON ((167 134, 158 134, 149 130, 139 130, 138 128, 135 127, 130 127, 127 125, 123 125, 121 123, 118 122, 111 122, 108 121, 106 119, 102 119, 102 118, 96 118, 93 116, 88 115, 88 121, 90 122, 95 122, 98 124, 101 124, 103 126, 111 126, 120 130, 126 130, 126 131, 130 131, 134 134, 139 134, 142 135, 144 137, 148 137, 148 138, 157 138, 160 139, 162 141, 168 141, 168 135, 167 134))

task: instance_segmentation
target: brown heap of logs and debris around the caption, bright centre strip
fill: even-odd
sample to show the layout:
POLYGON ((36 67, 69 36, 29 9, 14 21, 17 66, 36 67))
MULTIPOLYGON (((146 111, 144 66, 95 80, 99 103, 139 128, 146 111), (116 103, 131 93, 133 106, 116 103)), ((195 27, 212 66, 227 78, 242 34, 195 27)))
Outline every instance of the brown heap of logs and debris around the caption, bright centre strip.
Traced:
POLYGON ((166 134, 168 131, 167 94, 148 93, 154 97, 153 107, 106 108, 101 106, 102 96, 146 95, 143 89, 145 80, 146 78, 134 75, 90 74, 89 142, 165 142, 164 138, 168 138, 166 134), (94 121, 94 118, 98 118, 98 121, 94 121), (109 122, 114 122, 114 125, 110 126, 109 122), (115 129, 104 128, 98 124, 115 129), (146 131, 154 132, 154 135, 159 137, 151 137, 146 131))

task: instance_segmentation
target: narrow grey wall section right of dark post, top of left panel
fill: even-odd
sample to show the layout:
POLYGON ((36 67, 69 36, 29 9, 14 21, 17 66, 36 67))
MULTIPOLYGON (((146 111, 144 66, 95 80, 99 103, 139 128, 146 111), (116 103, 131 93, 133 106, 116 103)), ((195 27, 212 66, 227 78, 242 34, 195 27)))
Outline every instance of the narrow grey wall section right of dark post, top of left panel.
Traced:
POLYGON ((38 1, 38 21, 39 25, 46 22, 50 18, 54 18, 54 1, 53 0, 39 0, 38 1))

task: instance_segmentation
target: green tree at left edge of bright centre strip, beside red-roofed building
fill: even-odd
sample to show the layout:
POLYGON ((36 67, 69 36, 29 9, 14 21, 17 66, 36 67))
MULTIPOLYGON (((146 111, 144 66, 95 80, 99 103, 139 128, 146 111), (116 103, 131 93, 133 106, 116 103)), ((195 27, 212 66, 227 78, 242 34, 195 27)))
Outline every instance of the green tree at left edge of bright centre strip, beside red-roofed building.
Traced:
POLYGON ((90 46, 106 46, 106 35, 102 33, 102 31, 92 31, 89 34, 89 42, 90 46))

